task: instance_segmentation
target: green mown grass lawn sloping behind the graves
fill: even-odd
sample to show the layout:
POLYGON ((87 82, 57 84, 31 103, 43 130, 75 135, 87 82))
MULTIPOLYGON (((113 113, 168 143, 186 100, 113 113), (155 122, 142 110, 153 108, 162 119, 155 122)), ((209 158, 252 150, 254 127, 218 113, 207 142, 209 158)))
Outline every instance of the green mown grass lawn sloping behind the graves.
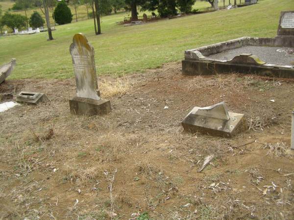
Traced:
POLYGON ((103 34, 98 36, 93 21, 86 20, 56 26, 54 41, 47 41, 47 33, 0 37, 0 64, 17 59, 10 79, 73 77, 69 47, 73 35, 82 32, 95 48, 98 74, 143 72, 180 61, 186 49, 243 36, 274 37, 280 11, 291 9, 293 0, 261 0, 242 8, 128 27, 116 23, 123 12, 102 17, 103 34))

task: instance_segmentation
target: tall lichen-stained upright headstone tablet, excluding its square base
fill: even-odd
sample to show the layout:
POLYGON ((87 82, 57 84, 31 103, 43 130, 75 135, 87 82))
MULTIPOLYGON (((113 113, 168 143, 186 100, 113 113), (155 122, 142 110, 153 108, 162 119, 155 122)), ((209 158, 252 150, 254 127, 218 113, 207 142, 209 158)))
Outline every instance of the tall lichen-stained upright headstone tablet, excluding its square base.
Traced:
POLYGON ((98 82, 94 61, 94 47, 82 33, 73 36, 70 46, 76 82, 76 96, 99 100, 98 82))

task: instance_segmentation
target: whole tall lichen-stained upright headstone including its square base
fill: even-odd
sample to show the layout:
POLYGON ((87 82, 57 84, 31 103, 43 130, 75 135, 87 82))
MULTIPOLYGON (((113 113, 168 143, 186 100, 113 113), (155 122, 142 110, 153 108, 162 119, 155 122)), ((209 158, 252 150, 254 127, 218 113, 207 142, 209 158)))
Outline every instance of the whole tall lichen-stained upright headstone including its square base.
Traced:
POLYGON ((70 46, 76 82, 76 96, 70 99, 72 114, 103 114, 110 112, 110 101, 102 100, 98 90, 94 47, 81 34, 73 36, 70 46))

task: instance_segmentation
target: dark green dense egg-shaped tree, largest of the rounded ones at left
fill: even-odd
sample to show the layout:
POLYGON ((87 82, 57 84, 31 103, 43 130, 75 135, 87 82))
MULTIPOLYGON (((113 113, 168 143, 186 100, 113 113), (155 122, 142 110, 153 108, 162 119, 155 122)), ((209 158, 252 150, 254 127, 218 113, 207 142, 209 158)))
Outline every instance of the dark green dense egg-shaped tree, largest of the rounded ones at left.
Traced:
POLYGON ((71 23, 73 20, 72 11, 64 0, 58 2, 54 10, 53 16, 55 22, 58 24, 71 23))

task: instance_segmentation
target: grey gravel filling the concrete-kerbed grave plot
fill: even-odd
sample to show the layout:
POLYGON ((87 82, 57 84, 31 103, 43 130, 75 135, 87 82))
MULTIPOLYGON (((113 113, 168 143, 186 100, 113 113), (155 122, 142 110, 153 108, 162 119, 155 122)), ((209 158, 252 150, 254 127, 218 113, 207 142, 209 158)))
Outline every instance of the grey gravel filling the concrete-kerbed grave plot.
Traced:
POLYGON ((294 48, 270 46, 242 46, 221 53, 210 55, 217 60, 230 60, 242 53, 251 53, 267 64, 294 66, 294 48))

